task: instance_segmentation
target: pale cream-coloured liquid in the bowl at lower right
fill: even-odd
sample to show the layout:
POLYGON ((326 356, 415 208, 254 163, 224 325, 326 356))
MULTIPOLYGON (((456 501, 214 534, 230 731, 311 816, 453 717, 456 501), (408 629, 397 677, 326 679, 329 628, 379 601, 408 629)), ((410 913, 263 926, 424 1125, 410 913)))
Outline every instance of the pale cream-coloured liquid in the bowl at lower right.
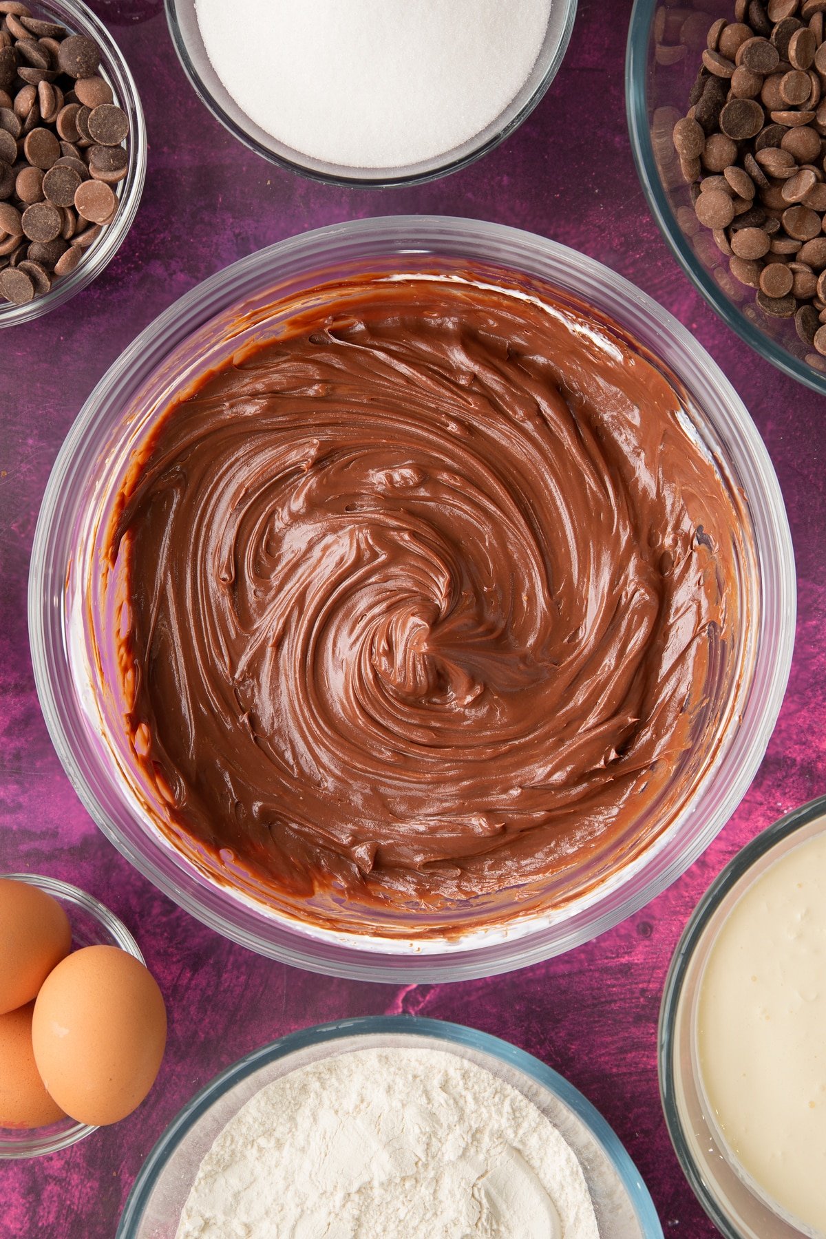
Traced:
POLYGON ((701 983, 697 1048, 734 1157, 826 1233, 826 833, 765 870, 723 923, 701 983))

